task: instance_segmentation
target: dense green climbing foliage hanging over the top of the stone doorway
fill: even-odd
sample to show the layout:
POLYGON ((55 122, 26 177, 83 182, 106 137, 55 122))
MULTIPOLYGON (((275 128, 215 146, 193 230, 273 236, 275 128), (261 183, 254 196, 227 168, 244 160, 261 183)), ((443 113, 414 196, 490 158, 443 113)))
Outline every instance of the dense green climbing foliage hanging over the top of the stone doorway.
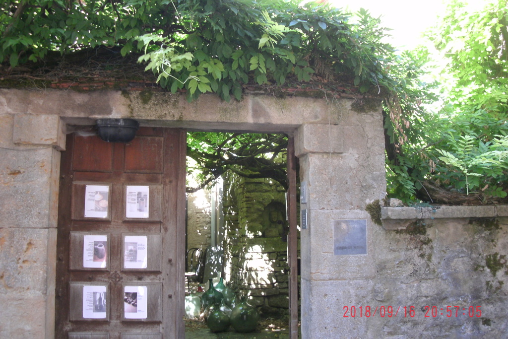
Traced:
MULTIPOLYGON (((0 4, 0 62, 16 67, 98 46, 141 63, 189 100, 241 99, 242 85, 338 75, 362 92, 387 81, 392 48, 379 19, 298 0, 17 0, 0 4)), ((314 78, 315 80, 315 78, 314 78)))

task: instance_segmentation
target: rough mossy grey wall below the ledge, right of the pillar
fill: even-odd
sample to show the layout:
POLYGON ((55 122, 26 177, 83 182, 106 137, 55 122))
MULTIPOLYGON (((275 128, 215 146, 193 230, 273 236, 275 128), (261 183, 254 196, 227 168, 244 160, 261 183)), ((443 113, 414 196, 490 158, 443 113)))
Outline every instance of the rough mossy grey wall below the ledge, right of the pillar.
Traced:
MULTIPOLYGON (((376 337, 505 337, 508 332, 508 218, 414 220, 404 230, 373 225, 369 283, 344 281, 325 307, 370 306, 376 337), (331 303, 336 302, 336 306, 331 303), (391 306, 393 313, 380 314, 391 306), (404 306, 406 309, 404 310, 404 306), (409 313, 412 307, 413 313, 409 313), (450 306, 450 307, 448 307, 450 306), (373 315, 377 307, 376 315, 373 315), (396 317, 394 315, 398 311, 396 317), (405 312, 405 316, 404 316, 405 312)), ((365 314, 363 314, 365 317, 365 314)), ((366 319, 366 318, 365 318, 366 319)), ((356 319, 360 320, 360 319, 356 319)), ((361 320, 364 321, 364 320, 361 320)), ((375 334, 375 335, 374 335, 375 334)), ((372 336, 372 337, 373 337, 372 336)))

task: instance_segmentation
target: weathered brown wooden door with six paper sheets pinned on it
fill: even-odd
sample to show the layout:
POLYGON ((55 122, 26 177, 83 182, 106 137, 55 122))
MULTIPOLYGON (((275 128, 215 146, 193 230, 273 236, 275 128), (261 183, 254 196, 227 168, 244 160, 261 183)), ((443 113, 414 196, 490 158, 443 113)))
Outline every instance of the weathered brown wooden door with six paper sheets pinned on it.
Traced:
POLYGON ((129 143, 69 135, 62 152, 55 336, 184 336, 185 132, 129 143))

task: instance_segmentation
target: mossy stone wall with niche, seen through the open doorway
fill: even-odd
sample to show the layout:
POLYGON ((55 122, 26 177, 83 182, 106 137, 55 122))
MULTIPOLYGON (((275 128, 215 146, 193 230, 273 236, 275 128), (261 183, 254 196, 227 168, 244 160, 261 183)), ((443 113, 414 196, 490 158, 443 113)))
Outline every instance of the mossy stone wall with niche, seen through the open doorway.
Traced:
POLYGON ((233 175, 224 192, 226 280, 262 314, 289 314, 284 189, 233 175))

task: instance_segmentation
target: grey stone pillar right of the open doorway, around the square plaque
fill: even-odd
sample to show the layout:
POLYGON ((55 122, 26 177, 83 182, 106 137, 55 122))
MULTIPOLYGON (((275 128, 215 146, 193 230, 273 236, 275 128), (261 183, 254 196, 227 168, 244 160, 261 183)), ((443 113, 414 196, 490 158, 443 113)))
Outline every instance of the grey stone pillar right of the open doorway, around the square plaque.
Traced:
POLYGON ((307 183, 307 229, 301 231, 303 338, 365 336, 366 318, 347 322, 343 306, 361 305, 375 275, 367 204, 386 192, 383 119, 343 109, 338 125, 302 125, 296 133, 300 180, 307 183), (334 221, 366 220, 367 254, 334 255, 334 221), (346 319, 346 320, 344 320, 346 319))

